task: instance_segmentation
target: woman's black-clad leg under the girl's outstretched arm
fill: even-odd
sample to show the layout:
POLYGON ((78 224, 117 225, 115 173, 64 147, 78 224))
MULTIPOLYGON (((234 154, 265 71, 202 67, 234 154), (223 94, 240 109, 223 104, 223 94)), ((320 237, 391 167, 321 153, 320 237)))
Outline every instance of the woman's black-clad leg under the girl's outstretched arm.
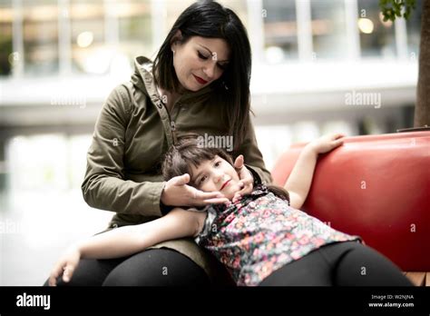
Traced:
MULTIPOLYGON (((45 281, 44 286, 48 285, 45 281)), ((187 286, 207 287, 210 280, 200 266, 180 252, 150 249, 130 257, 109 260, 82 259, 65 283, 58 286, 187 286)))

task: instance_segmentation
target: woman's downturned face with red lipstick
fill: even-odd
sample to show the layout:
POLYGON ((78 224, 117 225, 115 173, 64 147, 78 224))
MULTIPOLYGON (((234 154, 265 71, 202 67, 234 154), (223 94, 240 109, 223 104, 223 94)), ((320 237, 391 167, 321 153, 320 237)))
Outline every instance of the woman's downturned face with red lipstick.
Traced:
POLYGON ((229 45, 220 38, 192 36, 185 44, 171 44, 171 49, 182 88, 193 92, 219 79, 229 62, 229 45))

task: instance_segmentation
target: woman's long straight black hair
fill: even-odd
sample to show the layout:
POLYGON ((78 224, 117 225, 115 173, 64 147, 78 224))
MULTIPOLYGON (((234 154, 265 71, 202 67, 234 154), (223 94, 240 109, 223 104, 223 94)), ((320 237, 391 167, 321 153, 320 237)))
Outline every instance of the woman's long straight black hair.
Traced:
POLYGON ((171 44, 185 44, 192 36, 220 38, 230 47, 230 63, 220 79, 211 84, 214 91, 210 98, 222 104, 222 121, 238 148, 248 132, 250 112, 251 49, 246 28, 238 15, 216 2, 205 0, 190 5, 171 27, 154 59, 155 84, 178 92, 180 83, 173 68, 171 44), (178 31, 181 38, 176 36, 178 31))

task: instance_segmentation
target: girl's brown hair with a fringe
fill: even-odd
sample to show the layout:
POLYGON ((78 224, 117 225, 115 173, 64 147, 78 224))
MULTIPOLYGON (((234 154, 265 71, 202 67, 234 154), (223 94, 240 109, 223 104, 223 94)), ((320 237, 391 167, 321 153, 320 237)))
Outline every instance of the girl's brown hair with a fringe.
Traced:
MULTIPOLYGON (((189 173, 192 179, 191 164, 197 168, 200 163, 212 160, 217 155, 233 165, 230 154, 226 153, 224 150, 199 146, 195 138, 184 138, 179 143, 172 145, 164 156, 162 162, 162 175, 164 180, 168 181, 184 173, 189 173)), ((190 184, 194 186, 194 183, 190 184)), ((284 188, 276 185, 267 185, 267 188, 269 192, 274 193, 283 200, 287 200, 289 203, 289 194, 284 188)))

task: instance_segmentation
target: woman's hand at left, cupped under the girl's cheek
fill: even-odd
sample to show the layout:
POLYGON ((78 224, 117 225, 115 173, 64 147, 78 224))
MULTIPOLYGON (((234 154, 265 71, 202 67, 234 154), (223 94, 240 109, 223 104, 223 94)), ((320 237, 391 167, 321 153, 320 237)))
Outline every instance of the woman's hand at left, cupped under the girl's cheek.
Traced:
POLYGON ((220 192, 205 193, 187 185, 189 182, 190 174, 188 173, 171 178, 161 193, 161 202, 164 205, 173 206, 204 206, 230 202, 220 192))

